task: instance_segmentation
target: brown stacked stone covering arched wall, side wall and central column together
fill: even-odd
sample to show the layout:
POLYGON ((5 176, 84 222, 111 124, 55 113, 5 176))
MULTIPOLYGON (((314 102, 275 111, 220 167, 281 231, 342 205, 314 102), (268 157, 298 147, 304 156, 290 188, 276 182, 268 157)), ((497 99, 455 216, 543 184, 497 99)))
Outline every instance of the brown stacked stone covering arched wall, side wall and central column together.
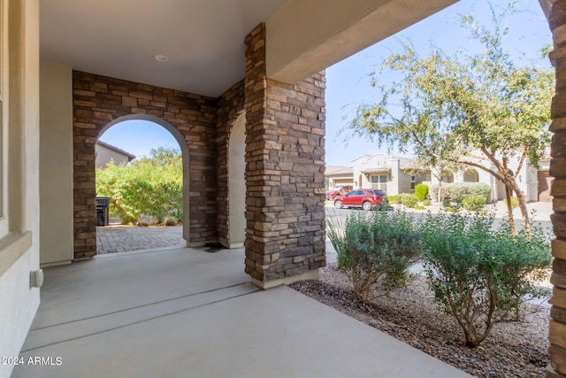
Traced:
POLYGON ((245 45, 246 79, 218 98, 73 73, 75 258, 96 255, 96 140, 133 114, 166 121, 187 143, 188 242, 228 245, 228 144, 245 110, 246 272, 267 287, 325 266, 325 75, 267 79, 263 24, 245 45))

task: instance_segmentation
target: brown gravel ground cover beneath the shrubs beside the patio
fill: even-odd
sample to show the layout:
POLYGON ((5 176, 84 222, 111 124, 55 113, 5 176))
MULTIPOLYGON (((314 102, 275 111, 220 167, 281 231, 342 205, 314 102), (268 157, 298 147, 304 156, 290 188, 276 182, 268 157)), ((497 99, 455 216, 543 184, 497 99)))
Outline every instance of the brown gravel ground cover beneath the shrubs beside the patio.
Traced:
POLYGON ((498 324, 486 341, 470 349, 463 345, 455 320, 437 309, 422 276, 372 305, 356 300, 348 277, 335 263, 320 269, 319 281, 295 282, 291 288, 468 374, 490 378, 545 375, 548 306, 529 305, 524 322, 498 324))

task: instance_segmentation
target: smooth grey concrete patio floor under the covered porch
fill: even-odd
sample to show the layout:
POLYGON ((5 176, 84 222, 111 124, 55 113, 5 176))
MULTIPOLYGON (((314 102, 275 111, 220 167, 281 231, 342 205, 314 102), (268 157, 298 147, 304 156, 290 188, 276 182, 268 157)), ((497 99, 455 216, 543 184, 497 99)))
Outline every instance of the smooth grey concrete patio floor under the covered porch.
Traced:
POLYGON ((46 268, 20 356, 53 366, 16 366, 11 376, 469 376, 294 289, 257 289, 243 250, 210 251, 46 268))

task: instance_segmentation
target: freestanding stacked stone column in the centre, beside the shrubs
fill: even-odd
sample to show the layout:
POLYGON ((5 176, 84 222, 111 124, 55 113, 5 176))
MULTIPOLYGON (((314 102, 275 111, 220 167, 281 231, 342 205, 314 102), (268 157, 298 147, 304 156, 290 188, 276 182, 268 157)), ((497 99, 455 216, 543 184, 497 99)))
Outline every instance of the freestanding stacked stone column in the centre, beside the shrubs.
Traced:
POLYGON ((269 288, 325 266, 325 74, 295 83, 265 70, 265 26, 246 49, 246 273, 269 288))

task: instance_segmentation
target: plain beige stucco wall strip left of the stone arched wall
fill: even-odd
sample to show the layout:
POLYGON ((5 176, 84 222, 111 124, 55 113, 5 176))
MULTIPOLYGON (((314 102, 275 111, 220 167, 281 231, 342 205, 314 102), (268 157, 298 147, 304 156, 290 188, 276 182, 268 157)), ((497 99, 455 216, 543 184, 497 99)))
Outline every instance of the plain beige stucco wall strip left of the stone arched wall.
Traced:
POLYGON ((73 259, 71 67, 42 61, 40 89, 40 261, 65 264, 73 259))

